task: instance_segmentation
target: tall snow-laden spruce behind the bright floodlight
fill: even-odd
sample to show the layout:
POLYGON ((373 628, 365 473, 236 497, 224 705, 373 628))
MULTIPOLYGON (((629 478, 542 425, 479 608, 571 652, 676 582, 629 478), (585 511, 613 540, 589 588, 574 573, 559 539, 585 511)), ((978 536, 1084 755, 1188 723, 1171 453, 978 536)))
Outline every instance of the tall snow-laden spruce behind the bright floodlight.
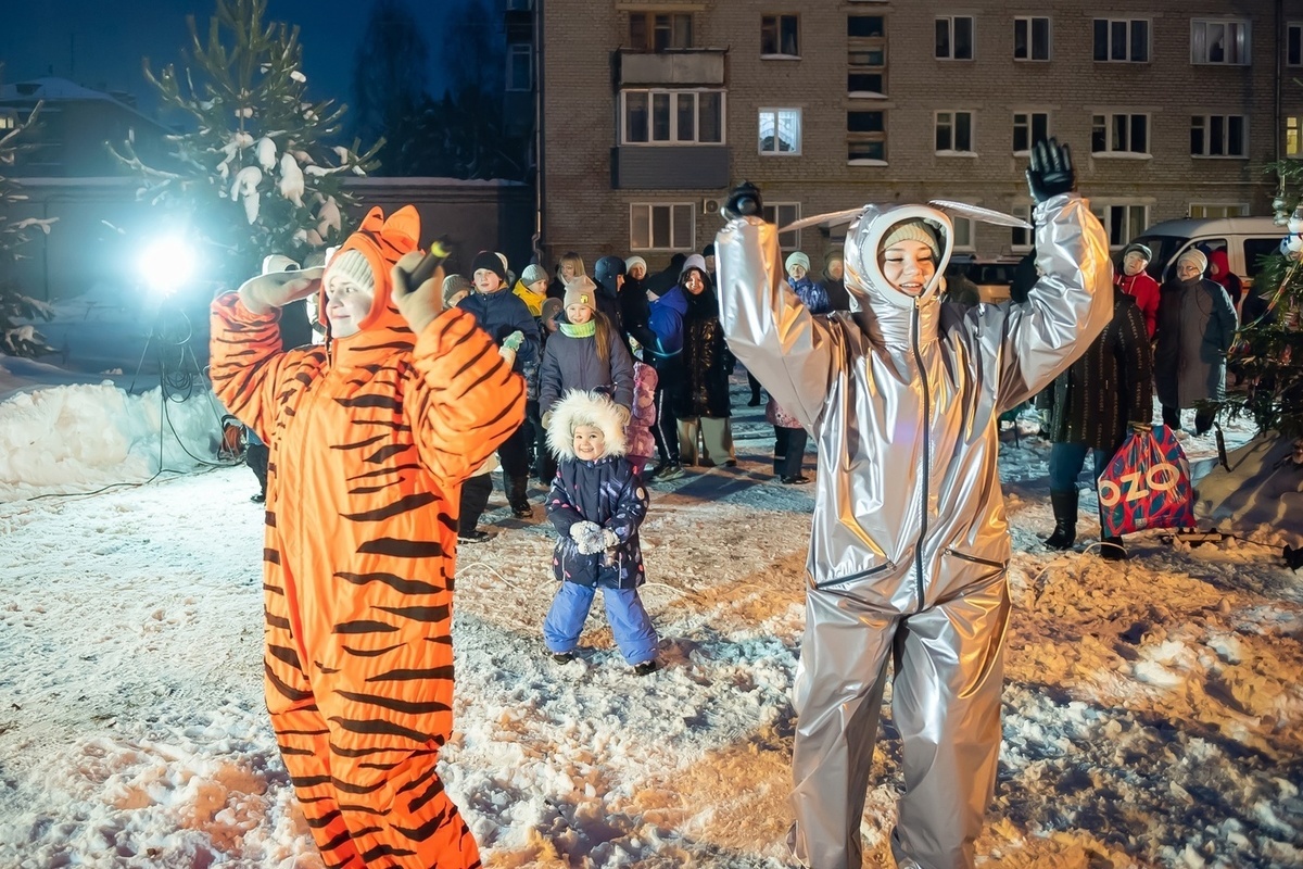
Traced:
POLYGON ((168 137, 168 165, 146 165, 130 143, 113 150, 141 173, 160 225, 185 227, 203 245, 206 276, 227 285, 267 254, 302 262, 341 241, 340 177, 373 171, 383 145, 331 145, 347 107, 308 98, 298 27, 265 22, 266 7, 218 0, 206 43, 189 16, 181 72, 169 64, 155 76, 145 59, 163 108, 194 128, 168 137))

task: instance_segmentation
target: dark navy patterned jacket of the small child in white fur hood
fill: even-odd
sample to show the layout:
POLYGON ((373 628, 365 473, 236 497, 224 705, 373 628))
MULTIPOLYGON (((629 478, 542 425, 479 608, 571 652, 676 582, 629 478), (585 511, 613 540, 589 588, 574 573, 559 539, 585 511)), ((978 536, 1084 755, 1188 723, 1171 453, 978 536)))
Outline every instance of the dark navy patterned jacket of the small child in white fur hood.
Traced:
POLYGON ((638 526, 648 513, 648 491, 623 456, 597 461, 562 459, 547 494, 547 519, 556 529, 552 575, 564 582, 607 589, 636 589, 646 581, 638 526), (575 522, 597 522, 620 538, 607 552, 584 555, 571 538, 575 522))

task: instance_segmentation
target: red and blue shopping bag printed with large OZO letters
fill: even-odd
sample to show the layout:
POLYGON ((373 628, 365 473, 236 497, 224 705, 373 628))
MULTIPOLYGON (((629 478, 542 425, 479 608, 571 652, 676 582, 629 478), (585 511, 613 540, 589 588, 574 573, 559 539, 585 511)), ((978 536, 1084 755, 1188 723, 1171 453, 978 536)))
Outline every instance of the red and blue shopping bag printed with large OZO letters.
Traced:
POLYGON ((1195 525, 1190 461, 1167 426, 1131 433, 1100 476, 1098 494, 1105 537, 1195 525))

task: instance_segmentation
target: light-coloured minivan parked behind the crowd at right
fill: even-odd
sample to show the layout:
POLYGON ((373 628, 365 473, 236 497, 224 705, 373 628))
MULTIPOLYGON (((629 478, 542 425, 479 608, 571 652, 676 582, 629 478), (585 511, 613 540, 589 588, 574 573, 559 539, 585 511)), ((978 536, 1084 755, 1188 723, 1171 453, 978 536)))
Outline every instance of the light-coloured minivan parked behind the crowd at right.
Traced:
POLYGON ((1230 270, 1247 288, 1261 271, 1259 261, 1276 253, 1286 235, 1270 218, 1187 218, 1156 223, 1132 241, 1153 251, 1148 271, 1160 284, 1173 275, 1181 254, 1199 248, 1205 253, 1224 249, 1230 270))

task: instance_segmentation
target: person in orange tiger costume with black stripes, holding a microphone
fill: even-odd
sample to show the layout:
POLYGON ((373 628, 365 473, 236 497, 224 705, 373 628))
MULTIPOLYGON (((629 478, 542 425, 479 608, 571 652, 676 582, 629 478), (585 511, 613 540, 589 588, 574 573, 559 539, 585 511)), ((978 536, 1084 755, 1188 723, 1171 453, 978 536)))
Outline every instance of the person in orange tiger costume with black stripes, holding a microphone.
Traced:
POLYGON ((420 216, 373 208, 322 270, 212 304, 212 384, 271 448, 266 698, 328 866, 480 866, 435 769, 452 728, 463 481, 525 412, 469 314, 420 287, 420 216), (322 289, 324 345, 281 350, 280 309, 322 289))

